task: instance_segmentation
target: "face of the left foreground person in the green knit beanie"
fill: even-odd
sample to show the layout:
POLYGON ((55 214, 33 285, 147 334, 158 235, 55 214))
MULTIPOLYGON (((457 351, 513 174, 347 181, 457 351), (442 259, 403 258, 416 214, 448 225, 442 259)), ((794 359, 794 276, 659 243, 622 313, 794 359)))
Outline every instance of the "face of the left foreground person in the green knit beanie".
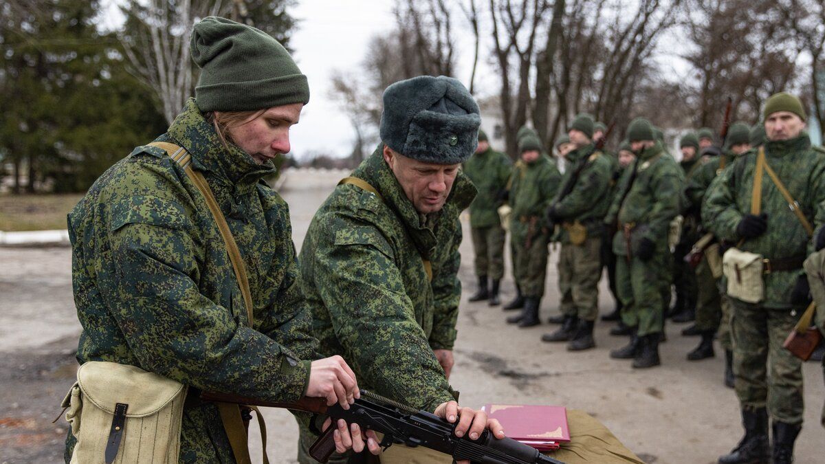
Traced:
POLYGON ((290 127, 298 124, 303 103, 271 107, 257 117, 229 128, 232 140, 256 163, 290 151, 290 127))

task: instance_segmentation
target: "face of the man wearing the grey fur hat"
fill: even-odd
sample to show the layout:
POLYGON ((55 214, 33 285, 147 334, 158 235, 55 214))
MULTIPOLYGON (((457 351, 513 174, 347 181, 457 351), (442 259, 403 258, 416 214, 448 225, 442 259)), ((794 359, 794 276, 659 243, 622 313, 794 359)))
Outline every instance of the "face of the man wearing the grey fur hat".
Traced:
POLYGON ((424 163, 398 154, 384 145, 384 161, 395 174, 404 194, 421 214, 441 211, 460 164, 424 163))

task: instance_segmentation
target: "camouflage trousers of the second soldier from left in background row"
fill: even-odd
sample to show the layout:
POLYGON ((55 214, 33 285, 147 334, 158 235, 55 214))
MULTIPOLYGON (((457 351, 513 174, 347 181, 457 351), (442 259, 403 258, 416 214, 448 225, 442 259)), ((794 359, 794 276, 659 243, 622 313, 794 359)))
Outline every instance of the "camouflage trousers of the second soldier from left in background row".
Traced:
POLYGON ((547 231, 539 225, 530 226, 512 221, 510 240, 513 247, 516 285, 523 296, 544 296, 547 278, 547 231))

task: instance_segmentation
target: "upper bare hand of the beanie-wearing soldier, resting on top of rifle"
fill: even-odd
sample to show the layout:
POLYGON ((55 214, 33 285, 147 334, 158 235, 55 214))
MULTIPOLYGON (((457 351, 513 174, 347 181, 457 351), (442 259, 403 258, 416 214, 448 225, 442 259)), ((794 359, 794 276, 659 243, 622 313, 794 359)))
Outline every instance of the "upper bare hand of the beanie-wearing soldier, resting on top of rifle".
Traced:
POLYGON ((338 355, 312 362, 306 395, 326 398, 328 406, 338 403, 345 410, 361 398, 355 372, 338 355))

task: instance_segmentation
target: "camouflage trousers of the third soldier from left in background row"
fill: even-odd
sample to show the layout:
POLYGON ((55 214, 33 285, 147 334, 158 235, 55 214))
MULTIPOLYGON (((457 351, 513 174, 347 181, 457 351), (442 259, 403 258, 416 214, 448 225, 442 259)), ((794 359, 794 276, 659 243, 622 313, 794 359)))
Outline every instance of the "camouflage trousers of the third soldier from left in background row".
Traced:
POLYGON ((559 254, 559 293, 563 315, 596 320, 599 314, 601 237, 581 245, 562 244, 559 254))

